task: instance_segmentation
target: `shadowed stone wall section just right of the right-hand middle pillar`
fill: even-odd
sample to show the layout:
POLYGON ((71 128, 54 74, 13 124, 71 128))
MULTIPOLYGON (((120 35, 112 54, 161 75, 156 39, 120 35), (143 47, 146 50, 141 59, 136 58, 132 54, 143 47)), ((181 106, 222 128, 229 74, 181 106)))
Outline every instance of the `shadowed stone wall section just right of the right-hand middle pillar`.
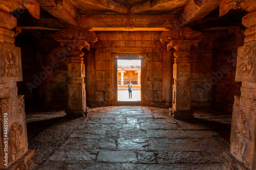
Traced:
POLYGON ((200 42, 190 50, 191 106, 208 106, 212 102, 213 88, 209 85, 214 70, 214 51, 207 42, 200 42))

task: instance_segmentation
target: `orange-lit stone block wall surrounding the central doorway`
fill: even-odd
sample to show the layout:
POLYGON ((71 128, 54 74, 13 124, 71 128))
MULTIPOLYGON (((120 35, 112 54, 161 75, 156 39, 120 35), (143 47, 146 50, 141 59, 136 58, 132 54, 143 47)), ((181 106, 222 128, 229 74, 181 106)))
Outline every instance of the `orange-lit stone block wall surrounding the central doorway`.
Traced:
MULTIPOLYGON (((98 32, 100 41, 87 53, 87 101, 90 105, 111 105, 111 56, 113 53, 146 53, 147 104, 172 104, 171 53, 159 41, 161 32, 98 32)), ((166 45, 166 44, 165 44, 166 45)), ((131 56, 133 57, 133 56, 131 56)))

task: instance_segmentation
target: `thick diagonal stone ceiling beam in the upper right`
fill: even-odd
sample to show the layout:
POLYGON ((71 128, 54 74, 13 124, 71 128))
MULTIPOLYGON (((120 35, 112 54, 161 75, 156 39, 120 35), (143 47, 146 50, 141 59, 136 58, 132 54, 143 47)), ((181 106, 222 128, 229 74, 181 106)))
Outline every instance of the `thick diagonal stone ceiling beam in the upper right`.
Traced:
POLYGON ((195 21, 199 21, 216 9, 220 2, 221 0, 189 0, 178 14, 177 27, 180 28, 195 21))

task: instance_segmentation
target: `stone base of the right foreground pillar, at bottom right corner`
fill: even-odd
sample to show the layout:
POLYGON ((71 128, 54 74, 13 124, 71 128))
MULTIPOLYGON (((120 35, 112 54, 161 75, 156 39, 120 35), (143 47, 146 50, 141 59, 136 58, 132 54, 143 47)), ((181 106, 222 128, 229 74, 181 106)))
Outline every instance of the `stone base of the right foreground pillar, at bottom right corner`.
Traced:
POLYGON ((225 170, 232 170, 232 169, 249 170, 240 161, 238 161, 235 157, 233 157, 229 152, 223 152, 223 157, 226 159, 223 164, 223 168, 225 170))

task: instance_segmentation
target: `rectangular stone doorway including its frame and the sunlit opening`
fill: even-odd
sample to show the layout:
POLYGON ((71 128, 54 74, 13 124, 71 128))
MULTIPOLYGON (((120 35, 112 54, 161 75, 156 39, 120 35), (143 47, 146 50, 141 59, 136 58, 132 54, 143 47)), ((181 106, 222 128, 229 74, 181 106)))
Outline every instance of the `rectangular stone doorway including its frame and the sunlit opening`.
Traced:
POLYGON ((146 105, 146 56, 146 53, 112 54, 112 105, 146 105), (134 85, 133 99, 129 99, 130 81, 134 85))

